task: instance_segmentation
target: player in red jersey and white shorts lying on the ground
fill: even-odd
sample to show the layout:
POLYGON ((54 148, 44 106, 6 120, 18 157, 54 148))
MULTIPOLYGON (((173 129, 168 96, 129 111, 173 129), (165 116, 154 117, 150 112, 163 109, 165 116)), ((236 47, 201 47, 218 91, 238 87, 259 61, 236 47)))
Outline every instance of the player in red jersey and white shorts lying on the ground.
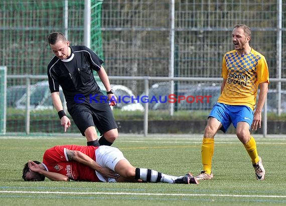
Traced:
POLYGON ((191 173, 173 176, 152 169, 136 168, 112 146, 57 145, 45 151, 43 162, 29 160, 23 169, 25 181, 103 181, 195 183, 191 173))

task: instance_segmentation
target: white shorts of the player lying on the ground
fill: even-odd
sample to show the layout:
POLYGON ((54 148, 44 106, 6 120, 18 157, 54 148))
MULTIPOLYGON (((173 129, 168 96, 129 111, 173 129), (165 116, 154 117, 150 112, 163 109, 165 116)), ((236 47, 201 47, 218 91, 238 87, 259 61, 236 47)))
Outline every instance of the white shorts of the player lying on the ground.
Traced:
MULTIPOLYGON (((126 159, 123 153, 116 147, 102 145, 95 150, 96 162, 103 167, 108 167, 114 171, 115 165, 121 159, 126 159)), ((127 160, 127 159, 126 159, 127 160)), ((116 182, 114 178, 106 178, 101 173, 95 171, 100 181, 116 182)))

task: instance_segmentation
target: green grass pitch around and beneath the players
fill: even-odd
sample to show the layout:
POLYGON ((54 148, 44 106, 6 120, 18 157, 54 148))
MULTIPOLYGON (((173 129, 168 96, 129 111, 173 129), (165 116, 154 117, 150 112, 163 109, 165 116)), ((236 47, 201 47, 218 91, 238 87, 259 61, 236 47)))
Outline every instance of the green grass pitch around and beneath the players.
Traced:
MULTIPOLYGON (((254 136, 255 137, 255 136, 254 136)), ((78 136, 1 136, 0 201, 2 205, 285 205, 285 138, 255 137, 266 169, 255 178, 243 145, 232 137, 216 137, 214 179, 200 184, 25 182, 22 169, 29 159, 42 160, 57 144, 82 144, 78 136)), ((144 137, 120 134, 113 146, 137 167, 184 175, 201 171, 201 135, 144 137)))

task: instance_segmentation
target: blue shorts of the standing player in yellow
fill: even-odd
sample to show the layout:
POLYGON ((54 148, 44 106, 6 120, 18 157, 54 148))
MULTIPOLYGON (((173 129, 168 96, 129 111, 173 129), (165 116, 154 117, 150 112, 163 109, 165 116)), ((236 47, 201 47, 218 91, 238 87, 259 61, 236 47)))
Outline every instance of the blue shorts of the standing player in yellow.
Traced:
POLYGON ((245 105, 229 105, 224 103, 216 103, 212 108, 209 117, 214 117, 222 124, 220 128, 226 132, 230 123, 236 128, 239 121, 245 121, 249 124, 249 129, 253 121, 253 111, 245 105))

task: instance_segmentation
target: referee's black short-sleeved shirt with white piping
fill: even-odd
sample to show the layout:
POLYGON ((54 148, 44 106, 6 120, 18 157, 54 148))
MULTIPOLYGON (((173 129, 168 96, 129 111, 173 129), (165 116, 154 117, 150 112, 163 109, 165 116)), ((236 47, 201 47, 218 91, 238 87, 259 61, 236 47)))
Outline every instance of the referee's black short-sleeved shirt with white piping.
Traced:
POLYGON ((70 46, 71 55, 67 59, 54 56, 48 64, 48 79, 51 93, 59 91, 61 85, 66 101, 76 94, 88 96, 100 91, 93 70, 98 71, 103 63, 95 52, 84 45, 70 46))

